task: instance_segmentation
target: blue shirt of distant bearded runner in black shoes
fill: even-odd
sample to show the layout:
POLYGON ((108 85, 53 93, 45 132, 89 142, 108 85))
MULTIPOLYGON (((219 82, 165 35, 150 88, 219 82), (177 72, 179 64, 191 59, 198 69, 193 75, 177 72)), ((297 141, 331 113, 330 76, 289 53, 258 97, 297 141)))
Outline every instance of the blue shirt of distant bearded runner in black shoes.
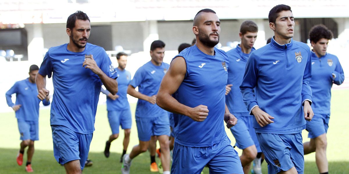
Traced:
MULTIPOLYGON (((130 105, 127 100, 127 87, 131 82, 131 73, 127 70, 120 70, 115 68, 118 73, 118 93, 116 93, 119 98, 112 100, 107 97, 107 110, 126 110, 130 109, 130 105)), ((108 90, 101 89, 101 92, 108 95, 110 92, 108 90)))

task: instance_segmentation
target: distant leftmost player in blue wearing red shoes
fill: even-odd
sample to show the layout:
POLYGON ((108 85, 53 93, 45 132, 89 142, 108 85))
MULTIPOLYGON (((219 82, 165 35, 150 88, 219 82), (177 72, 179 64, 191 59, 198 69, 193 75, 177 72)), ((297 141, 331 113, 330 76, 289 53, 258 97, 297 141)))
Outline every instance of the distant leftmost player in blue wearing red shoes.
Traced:
MULTIPOLYGON (((31 159, 34 154, 34 141, 39 140, 39 103, 40 100, 36 97, 38 91, 35 84, 35 76, 39 71, 37 65, 29 67, 29 78, 16 82, 6 92, 6 102, 9 107, 16 112, 18 122, 18 130, 21 134, 20 150, 17 155, 17 164, 23 164, 24 149, 27 150, 27 164, 25 170, 34 172, 31 167, 31 159), (12 102, 11 95, 16 94, 16 103, 12 102)), ((47 96, 42 100, 43 105, 50 105, 50 98, 47 96)))

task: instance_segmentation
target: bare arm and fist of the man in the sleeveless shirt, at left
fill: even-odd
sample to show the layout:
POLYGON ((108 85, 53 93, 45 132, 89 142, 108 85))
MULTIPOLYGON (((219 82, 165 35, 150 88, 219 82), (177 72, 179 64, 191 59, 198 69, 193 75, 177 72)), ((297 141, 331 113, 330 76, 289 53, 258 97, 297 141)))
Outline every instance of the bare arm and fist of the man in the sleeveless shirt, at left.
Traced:
POLYGON ((195 108, 191 108, 179 103, 172 97, 172 94, 178 90, 179 85, 184 80, 185 73, 186 63, 184 58, 175 58, 171 62, 170 68, 161 81, 160 89, 156 97, 156 103, 159 107, 167 111, 186 115, 194 121, 202 122, 208 116, 207 106, 199 105, 195 108))

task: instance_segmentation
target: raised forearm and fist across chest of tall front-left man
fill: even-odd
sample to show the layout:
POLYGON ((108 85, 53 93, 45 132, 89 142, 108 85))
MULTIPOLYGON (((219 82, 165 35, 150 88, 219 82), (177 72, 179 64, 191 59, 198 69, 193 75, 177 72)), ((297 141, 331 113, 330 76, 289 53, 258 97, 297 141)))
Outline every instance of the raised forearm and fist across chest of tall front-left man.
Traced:
POLYGON ((85 59, 85 61, 82 64, 83 67, 91 69, 91 71, 98 75, 98 77, 101 79, 103 85, 105 88, 115 95, 118 92, 118 82, 108 77, 102 70, 97 66, 96 61, 93 59, 93 55, 91 55, 90 59, 85 59))

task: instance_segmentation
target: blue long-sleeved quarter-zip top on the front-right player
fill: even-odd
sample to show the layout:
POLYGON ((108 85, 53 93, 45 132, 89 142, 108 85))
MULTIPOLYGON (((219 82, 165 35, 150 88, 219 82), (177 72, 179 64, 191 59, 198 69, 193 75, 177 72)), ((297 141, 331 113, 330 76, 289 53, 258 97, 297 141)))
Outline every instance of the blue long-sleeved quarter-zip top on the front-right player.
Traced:
POLYGON ((261 127, 253 120, 257 133, 293 134, 305 129, 302 103, 311 101, 311 55, 303 42, 291 39, 280 45, 274 38, 255 50, 247 60, 240 85, 244 102, 251 109, 258 105, 274 117, 274 123, 261 127))

